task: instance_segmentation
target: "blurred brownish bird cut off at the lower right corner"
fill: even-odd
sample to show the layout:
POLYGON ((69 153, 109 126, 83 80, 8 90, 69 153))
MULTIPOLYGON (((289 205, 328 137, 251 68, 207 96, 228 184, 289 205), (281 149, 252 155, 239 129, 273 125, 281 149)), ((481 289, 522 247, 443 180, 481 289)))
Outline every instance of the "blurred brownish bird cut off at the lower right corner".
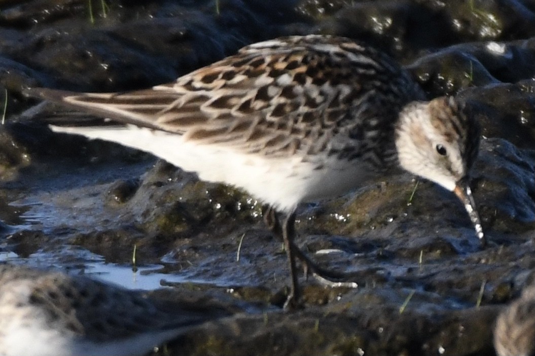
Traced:
POLYGON ((498 315, 494 326, 494 349, 498 356, 535 354, 535 286, 498 315))

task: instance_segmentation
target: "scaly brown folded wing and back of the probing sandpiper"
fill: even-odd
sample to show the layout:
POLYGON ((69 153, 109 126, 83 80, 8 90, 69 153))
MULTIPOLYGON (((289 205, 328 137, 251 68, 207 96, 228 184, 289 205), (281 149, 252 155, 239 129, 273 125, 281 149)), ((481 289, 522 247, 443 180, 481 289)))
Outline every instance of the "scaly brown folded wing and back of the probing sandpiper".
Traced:
POLYGON ((346 38, 293 36, 250 45, 148 90, 30 95, 246 152, 310 152, 325 148, 351 107, 373 103, 370 96, 402 75, 381 53, 346 38))

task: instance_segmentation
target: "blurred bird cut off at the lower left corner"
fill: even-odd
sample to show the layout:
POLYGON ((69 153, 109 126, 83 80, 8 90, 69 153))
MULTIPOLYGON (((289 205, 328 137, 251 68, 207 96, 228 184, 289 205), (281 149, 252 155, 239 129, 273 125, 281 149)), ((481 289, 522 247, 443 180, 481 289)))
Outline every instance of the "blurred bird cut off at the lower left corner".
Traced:
POLYGON ((172 304, 83 275, 0 265, 0 355, 142 356, 226 316, 172 304))

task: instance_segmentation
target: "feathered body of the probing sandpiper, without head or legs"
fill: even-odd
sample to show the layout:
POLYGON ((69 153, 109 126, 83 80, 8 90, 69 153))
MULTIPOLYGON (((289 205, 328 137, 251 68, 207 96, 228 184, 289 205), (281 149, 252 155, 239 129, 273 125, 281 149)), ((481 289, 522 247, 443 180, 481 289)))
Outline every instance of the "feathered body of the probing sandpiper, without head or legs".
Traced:
POLYGON ((320 35, 256 43, 146 90, 27 93, 129 125, 56 130, 154 153, 285 212, 398 168, 395 123, 424 97, 383 53, 320 35))

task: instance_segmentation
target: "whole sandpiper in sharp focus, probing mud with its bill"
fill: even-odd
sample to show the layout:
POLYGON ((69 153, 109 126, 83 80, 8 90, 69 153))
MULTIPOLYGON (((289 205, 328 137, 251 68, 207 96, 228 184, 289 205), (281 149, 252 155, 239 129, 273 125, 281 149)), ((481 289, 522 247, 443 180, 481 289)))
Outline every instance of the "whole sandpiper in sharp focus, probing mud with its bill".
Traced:
POLYGON ((149 89, 24 94, 104 118, 55 131, 151 152, 265 204, 264 220, 287 253, 288 308, 300 299, 296 260, 307 275, 341 283, 339 273, 320 268, 295 244, 302 202, 408 171, 453 191, 485 243, 468 185, 479 146, 474 115, 454 97, 427 101, 406 69, 364 42, 279 37, 149 89))

